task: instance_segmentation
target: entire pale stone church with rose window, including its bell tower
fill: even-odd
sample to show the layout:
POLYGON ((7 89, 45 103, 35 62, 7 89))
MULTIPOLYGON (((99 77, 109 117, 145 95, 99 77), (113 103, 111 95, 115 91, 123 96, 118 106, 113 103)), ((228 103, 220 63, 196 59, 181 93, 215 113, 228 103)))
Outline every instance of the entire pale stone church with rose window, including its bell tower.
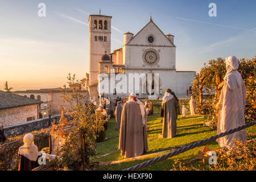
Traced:
POLYGON ((123 34, 123 46, 110 52, 112 16, 90 15, 90 96, 159 98, 171 88, 177 96, 188 96, 196 72, 176 71, 174 35, 165 35, 150 17, 136 35, 123 34))

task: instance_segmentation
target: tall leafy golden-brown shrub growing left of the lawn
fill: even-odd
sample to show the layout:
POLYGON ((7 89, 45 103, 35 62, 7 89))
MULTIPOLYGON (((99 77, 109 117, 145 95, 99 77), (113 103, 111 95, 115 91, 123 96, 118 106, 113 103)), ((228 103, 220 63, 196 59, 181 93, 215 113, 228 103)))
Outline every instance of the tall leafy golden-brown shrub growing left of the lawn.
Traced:
MULTIPOLYGON (((80 84, 75 75, 68 75, 68 85, 80 84)), ((61 117, 59 125, 53 125, 52 130, 65 138, 65 144, 59 151, 60 160, 58 163, 61 168, 73 167, 77 169, 86 169, 90 167, 89 156, 96 153, 96 137, 100 130, 104 130, 104 123, 109 118, 102 117, 102 114, 95 111, 97 108, 91 102, 86 101, 86 97, 81 90, 63 89, 63 100, 68 102, 69 107, 60 106, 61 117), (70 115, 73 119, 68 121, 65 115, 70 115), (75 130, 68 136, 62 133, 65 126, 75 126, 75 130), (80 155, 76 160, 75 155, 80 155), (75 165, 75 166, 74 166, 75 165)))

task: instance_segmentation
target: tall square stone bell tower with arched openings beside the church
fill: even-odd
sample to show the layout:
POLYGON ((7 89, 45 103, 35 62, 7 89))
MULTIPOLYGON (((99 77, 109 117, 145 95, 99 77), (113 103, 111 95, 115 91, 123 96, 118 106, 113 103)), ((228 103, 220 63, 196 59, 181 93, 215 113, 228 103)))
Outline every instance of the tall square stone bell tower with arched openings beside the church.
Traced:
POLYGON ((89 85, 98 78, 98 62, 101 56, 110 54, 112 16, 89 16, 89 85))

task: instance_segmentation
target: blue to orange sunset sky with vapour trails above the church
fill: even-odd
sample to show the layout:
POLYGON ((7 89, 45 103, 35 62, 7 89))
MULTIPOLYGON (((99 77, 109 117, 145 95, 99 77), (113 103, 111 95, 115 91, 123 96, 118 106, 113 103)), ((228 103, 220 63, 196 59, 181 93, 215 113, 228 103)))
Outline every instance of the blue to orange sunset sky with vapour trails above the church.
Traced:
POLYGON ((123 34, 134 35, 152 16, 174 35, 177 71, 199 72, 210 59, 256 55, 256 1, 68 1, 0 0, 0 90, 56 88, 68 73, 89 72, 89 14, 112 16, 111 50, 123 34), (46 16, 38 16, 39 3, 46 16), (209 16, 210 3, 216 15, 209 16))

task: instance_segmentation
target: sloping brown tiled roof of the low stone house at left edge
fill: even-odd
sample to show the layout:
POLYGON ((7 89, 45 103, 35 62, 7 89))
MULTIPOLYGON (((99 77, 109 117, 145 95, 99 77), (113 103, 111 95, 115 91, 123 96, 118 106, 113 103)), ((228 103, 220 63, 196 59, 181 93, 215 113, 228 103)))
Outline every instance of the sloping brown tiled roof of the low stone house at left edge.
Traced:
POLYGON ((0 90, 0 109, 6 109, 11 107, 27 106, 43 103, 42 101, 34 100, 19 96, 9 92, 3 92, 0 90))

